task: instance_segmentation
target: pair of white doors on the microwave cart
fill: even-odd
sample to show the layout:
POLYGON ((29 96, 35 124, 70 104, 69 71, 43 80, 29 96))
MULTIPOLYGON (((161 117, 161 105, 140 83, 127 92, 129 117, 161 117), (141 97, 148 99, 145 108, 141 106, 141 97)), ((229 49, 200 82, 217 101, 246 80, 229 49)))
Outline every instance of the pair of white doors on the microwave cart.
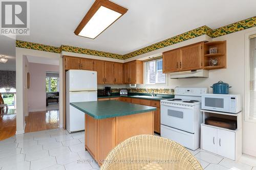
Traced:
POLYGON ((202 126, 202 149, 235 160, 235 133, 202 126))

